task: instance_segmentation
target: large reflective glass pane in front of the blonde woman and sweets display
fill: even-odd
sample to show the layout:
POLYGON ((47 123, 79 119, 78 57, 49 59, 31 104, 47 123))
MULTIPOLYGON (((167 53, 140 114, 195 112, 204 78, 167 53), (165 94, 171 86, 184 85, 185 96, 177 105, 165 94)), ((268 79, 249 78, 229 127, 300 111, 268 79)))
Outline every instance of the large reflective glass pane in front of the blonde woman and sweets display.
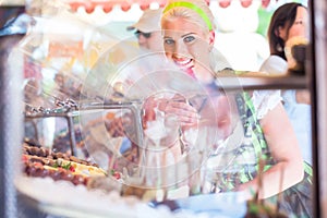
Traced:
MULTIPOLYGON (((310 41, 283 39, 282 63, 261 68, 269 58, 268 21, 283 3, 210 2, 215 35, 190 27, 197 22, 122 37, 118 28, 136 21, 113 21, 109 29, 68 11, 33 17, 19 45, 26 66, 19 190, 66 216, 116 213, 99 195, 121 201, 121 214, 131 211, 129 201, 146 210, 166 205, 167 215, 186 208, 237 217, 261 203, 290 216, 310 214, 310 41), (266 15, 261 29, 258 13, 266 15), (162 35, 159 50, 137 45, 162 35), (283 68, 276 73, 275 66, 283 68), (47 189, 92 204, 62 205, 59 194, 43 196, 47 189)), ((294 19, 289 31, 306 22, 294 19)))

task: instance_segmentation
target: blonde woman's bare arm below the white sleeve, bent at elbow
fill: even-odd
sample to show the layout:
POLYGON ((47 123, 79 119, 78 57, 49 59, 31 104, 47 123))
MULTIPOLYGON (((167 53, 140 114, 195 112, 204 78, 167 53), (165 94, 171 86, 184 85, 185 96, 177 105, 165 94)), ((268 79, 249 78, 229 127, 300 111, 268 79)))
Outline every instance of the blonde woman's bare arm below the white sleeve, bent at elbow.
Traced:
MULTIPOLYGON (((261 120, 261 124, 271 155, 277 161, 263 174, 263 190, 259 191, 258 196, 259 198, 267 198, 300 182, 304 177, 304 169, 295 133, 282 105, 278 104, 268 111, 261 120)), ((258 181, 255 178, 242 184, 240 190, 256 191, 257 184, 258 181)))

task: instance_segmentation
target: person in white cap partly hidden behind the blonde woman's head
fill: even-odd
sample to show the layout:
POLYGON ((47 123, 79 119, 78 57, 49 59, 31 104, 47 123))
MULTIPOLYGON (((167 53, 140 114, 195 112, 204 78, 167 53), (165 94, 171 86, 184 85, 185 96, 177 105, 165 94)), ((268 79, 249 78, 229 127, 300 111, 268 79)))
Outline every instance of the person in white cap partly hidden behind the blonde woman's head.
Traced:
POLYGON ((164 51, 160 19, 162 9, 147 9, 140 20, 128 27, 128 31, 135 31, 138 45, 150 51, 164 51))

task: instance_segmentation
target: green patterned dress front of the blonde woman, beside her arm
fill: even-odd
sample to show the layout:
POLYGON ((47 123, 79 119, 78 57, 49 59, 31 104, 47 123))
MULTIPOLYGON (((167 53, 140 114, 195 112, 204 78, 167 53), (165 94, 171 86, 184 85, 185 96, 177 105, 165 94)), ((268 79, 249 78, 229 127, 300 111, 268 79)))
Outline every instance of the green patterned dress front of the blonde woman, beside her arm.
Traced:
POLYGON ((233 149, 228 148, 228 152, 219 154, 220 159, 228 159, 220 161, 228 166, 220 167, 223 170, 218 171, 216 177, 216 186, 220 191, 232 191, 239 184, 253 180, 258 172, 259 158, 265 159, 265 170, 275 164, 249 93, 237 93, 234 99, 242 122, 243 138, 233 149))

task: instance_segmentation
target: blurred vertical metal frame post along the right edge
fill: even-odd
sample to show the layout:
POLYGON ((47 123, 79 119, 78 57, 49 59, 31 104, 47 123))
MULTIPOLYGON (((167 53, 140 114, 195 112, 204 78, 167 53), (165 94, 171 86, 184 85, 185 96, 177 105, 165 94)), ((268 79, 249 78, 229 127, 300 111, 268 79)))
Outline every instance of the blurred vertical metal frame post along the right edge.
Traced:
POLYGON ((312 110, 313 110, 313 166, 315 217, 327 217, 327 2, 312 0, 312 110))

